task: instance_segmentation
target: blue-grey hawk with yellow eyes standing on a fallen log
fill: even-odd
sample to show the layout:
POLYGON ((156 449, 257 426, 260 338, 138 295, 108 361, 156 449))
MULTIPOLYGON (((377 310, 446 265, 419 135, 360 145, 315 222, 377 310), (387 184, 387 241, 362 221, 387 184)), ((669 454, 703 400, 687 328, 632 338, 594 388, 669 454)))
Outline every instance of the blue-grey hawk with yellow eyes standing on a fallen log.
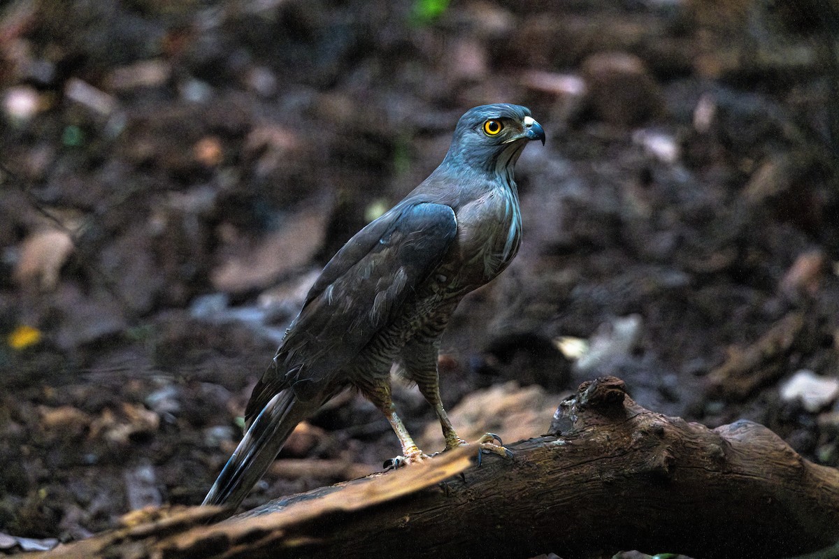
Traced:
MULTIPOLYGON (((253 388, 248 430, 204 505, 239 505, 294 427, 349 386, 399 437, 393 463, 428 458, 393 406, 393 364, 434 407, 446 449, 466 444, 440 401, 440 335, 466 293, 498 276, 519 250, 513 167, 530 140, 544 144, 545 132, 524 106, 466 111, 440 166, 332 257, 253 388)), ((508 454, 493 438, 482 437, 481 448, 508 454)))

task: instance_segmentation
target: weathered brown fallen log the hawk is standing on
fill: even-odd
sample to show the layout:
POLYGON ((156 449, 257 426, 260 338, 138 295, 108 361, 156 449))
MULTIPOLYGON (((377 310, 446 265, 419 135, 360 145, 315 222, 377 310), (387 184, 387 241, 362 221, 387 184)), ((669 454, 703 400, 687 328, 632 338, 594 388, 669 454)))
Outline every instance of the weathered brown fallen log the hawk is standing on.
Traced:
POLYGON ((315 489, 216 525, 189 510, 50 557, 574 557, 626 549, 779 557, 839 540, 839 471, 765 427, 711 430, 645 410, 607 377, 557 410, 549 435, 315 489), (458 475, 458 474, 461 474, 458 475), (268 514, 276 512, 276 514, 268 514))

